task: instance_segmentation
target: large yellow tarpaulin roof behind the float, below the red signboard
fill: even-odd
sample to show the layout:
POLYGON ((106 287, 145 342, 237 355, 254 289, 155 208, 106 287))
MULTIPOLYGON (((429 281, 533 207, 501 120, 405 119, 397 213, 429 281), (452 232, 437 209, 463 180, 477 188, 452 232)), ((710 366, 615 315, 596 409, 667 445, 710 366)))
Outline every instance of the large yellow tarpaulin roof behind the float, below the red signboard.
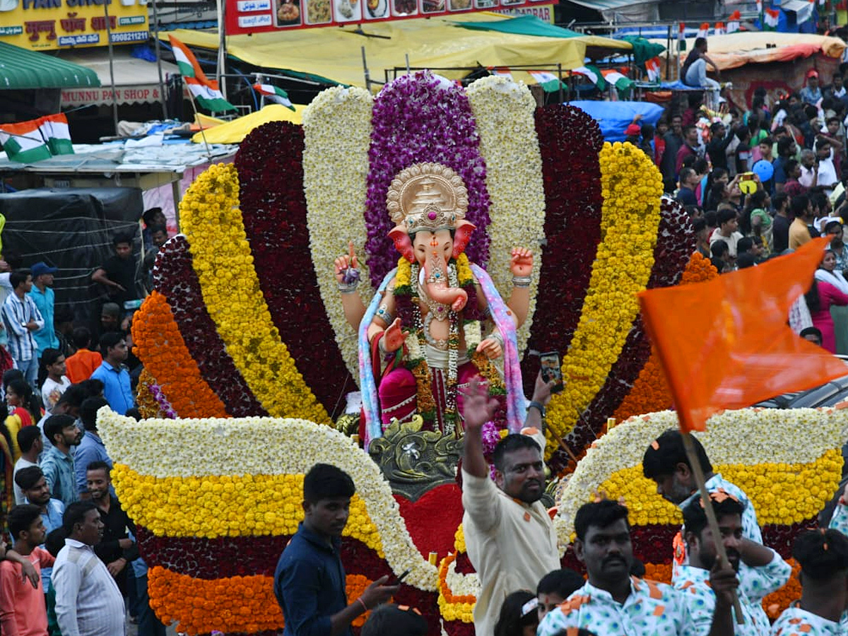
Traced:
MULTIPOLYGON (((463 21, 504 20, 496 14, 466 14, 463 21)), ((583 37, 523 36, 494 31, 471 31, 452 20, 429 18, 397 20, 362 25, 368 37, 353 28, 325 27, 299 31, 254 33, 226 38, 227 54, 266 69, 302 73, 316 78, 365 86, 362 47, 371 78, 384 80, 383 70, 404 67, 409 55, 412 67, 512 66, 538 64, 539 70, 563 70, 583 66, 589 42, 583 37)), ((217 49, 217 32, 177 30, 173 35, 189 46, 217 49)), ((626 42, 616 42, 630 48, 626 42)), ((611 51, 613 53, 614 51, 611 51)), ((449 79, 460 79, 467 71, 437 71, 449 79)), ((390 78, 391 79, 391 76, 390 78)))

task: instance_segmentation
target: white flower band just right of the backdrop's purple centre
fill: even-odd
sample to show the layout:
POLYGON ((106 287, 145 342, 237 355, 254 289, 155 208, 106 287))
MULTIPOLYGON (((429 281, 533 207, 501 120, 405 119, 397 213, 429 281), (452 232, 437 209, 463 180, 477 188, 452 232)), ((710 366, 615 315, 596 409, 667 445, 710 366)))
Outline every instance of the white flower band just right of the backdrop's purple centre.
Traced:
POLYGON ((477 120, 480 152, 486 160, 488 215, 492 220, 486 271, 503 298, 510 298, 512 292, 512 248, 533 250, 530 307, 527 321, 516 334, 521 355, 533 325, 544 240, 542 154, 533 115, 536 100, 524 84, 496 75, 473 82, 466 94, 477 120))

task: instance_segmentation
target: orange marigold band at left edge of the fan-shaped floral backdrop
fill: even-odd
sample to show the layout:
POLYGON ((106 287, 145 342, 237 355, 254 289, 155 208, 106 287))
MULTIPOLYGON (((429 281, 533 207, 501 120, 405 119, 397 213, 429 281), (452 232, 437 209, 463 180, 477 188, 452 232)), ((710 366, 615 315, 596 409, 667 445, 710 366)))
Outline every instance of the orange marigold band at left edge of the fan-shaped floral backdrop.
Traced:
POLYGON ((200 375, 161 293, 144 299, 132 321, 132 339, 144 368, 159 382, 182 417, 227 417, 226 408, 200 375))

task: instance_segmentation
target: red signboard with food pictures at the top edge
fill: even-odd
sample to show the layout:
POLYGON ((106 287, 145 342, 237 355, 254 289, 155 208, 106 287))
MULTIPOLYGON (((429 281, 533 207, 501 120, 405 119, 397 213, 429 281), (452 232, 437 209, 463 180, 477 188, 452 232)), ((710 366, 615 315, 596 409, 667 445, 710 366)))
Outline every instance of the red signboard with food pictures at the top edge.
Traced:
POLYGON ((550 4, 550 0, 226 0, 226 34, 355 25, 550 4))

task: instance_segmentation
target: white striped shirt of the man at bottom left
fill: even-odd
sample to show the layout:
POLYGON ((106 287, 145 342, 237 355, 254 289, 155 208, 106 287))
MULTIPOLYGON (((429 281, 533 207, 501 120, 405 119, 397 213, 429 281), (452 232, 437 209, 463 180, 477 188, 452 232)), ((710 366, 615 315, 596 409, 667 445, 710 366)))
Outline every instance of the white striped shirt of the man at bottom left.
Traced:
POLYGON ((53 564, 62 636, 125 636, 124 598, 92 546, 64 540, 53 564))

